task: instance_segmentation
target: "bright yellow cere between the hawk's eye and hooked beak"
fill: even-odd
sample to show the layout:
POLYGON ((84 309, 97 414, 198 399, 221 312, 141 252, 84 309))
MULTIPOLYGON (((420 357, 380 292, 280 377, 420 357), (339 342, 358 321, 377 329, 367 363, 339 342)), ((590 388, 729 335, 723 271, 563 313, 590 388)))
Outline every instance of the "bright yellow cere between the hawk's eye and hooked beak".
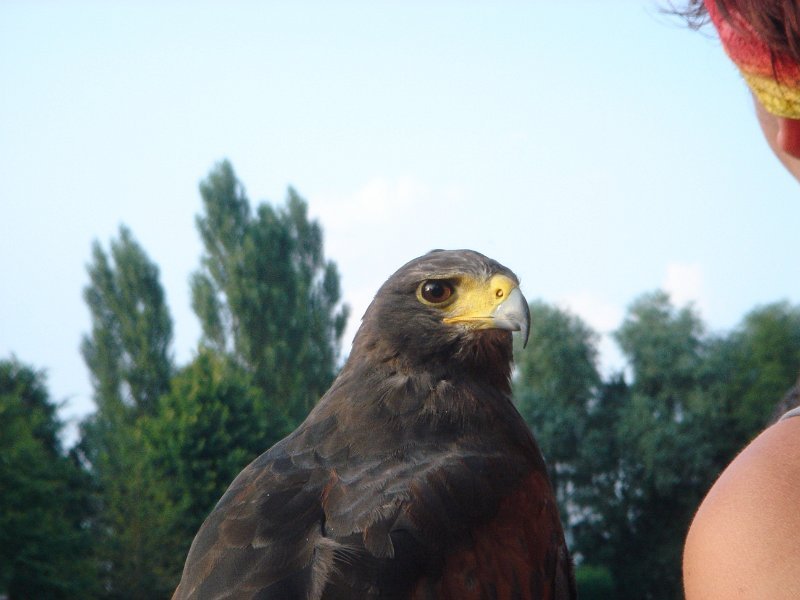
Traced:
POLYGON ((456 285, 455 300, 443 308, 448 314, 445 323, 470 323, 477 328, 489 327, 492 312, 517 284, 505 275, 494 275, 489 281, 461 277, 456 285))

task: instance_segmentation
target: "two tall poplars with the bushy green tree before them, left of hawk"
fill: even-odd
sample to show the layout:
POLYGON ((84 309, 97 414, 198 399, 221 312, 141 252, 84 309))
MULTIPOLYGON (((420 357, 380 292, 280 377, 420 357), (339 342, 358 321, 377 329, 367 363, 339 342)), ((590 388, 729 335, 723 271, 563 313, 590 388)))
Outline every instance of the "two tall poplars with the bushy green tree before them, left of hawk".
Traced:
POLYGON ((203 343, 175 372, 158 268, 120 228, 95 243, 82 352, 97 412, 78 451, 91 468, 100 595, 166 598, 194 533, 236 474, 327 389, 346 308, 322 231, 293 190, 256 214, 230 164, 201 184, 205 246, 192 278, 203 343))

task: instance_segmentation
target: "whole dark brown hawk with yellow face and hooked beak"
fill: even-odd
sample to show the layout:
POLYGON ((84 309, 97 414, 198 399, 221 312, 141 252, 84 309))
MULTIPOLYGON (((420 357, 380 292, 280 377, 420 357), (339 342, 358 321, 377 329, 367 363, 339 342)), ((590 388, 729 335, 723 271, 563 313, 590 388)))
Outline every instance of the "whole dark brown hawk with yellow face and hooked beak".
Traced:
POLYGON ((529 319, 516 276, 478 252, 401 267, 330 390, 205 520, 173 598, 575 598, 511 399, 529 319))

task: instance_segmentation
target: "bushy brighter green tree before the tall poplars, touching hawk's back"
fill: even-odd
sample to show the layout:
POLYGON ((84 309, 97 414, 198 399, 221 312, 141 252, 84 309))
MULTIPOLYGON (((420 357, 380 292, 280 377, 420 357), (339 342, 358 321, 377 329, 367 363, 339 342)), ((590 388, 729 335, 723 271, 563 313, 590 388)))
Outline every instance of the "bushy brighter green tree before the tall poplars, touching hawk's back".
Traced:
POLYGON ((195 532, 233 478, 287 433, 252 377, 226 357, 201 350, 173 378, 156 414, 143 424, 149 464, 165 487, 177 585, 195 532))

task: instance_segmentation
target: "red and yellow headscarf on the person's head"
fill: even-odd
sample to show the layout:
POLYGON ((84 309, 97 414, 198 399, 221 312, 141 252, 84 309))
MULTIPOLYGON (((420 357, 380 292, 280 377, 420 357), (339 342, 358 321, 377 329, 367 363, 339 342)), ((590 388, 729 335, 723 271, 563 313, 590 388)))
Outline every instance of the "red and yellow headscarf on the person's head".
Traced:
POLYGON ((800 119, 800 64, 771 50, 738 13, 731 13, 728 20, 715 0, 705 0, 705 5, 725 52, 759 102, 776 116, 800 119))

